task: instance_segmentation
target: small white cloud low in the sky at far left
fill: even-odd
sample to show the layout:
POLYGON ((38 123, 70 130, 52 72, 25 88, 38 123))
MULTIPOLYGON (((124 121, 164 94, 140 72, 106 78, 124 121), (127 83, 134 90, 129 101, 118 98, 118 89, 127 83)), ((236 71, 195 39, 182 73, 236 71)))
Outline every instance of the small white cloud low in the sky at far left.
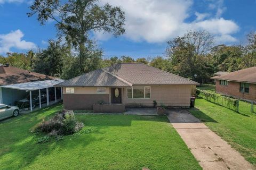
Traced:
POLYGON ((25 50, 36 48, 34 43, 21 40, 22 37, 24 37, 24 34, 20 30, 0 35, 0 54, 10 52, 11 48, 25 50))

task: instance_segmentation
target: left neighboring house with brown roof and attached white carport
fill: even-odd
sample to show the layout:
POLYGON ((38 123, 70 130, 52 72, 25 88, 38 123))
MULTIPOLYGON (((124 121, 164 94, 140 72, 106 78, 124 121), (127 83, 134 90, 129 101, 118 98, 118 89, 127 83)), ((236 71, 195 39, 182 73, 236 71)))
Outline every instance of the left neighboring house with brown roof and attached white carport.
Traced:
MULTIPOLYGON (((47 97, 47 105, 61 98, 61 88, 53 85, 62 82, 44 74, 0 64, 0 104, 15 105, 17 101, 32 105, 34 97, 47 97)), ((41 100, 41 98, 38 100, 41 100)), ((44 100, 44 99, 43 99, 44 100)), ((24 105, 22 105, 24 106, 24 105)), ((41 107, 41 103, 39 103, 41 107)), ((33 108, 30 107, 30 110, 33 108)))

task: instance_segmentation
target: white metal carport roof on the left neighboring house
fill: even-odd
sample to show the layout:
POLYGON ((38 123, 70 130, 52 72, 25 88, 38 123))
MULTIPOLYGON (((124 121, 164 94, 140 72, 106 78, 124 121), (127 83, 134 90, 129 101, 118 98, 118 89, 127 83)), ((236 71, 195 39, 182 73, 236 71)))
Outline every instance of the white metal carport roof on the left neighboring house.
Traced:
POLYGON ((34 82, 28 82, 28 83, 10 84, 10 85, 5 85, 5 86, 1 86, 1 87, 31 91, 31 90, 51 88, 55 84, 61 83, 63 81, 64 80, 62 80, 62 79, 54 79, 54 80, 34 81, 34 82))

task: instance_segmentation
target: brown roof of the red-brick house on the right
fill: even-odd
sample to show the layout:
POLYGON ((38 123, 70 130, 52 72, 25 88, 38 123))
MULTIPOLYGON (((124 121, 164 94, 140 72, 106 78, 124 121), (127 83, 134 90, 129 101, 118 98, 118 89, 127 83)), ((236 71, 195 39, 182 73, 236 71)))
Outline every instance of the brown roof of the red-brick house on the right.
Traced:
POLYGON ((218 75, 212 77, 211 79, 256 83, 256 67, 250 67, 228 74, 218 75))

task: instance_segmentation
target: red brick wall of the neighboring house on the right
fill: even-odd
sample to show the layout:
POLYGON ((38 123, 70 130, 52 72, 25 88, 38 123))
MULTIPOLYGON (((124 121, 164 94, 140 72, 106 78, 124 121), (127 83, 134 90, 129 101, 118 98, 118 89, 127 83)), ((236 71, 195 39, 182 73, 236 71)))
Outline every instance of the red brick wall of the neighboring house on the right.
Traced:
POLYGON ((248 100, 256 99, 256 84, 250 84, 249 94, 240 92, 239 88, 239 82, 229 81, 228 85, 225 86, 220 84, 220 80, 216 80, 216 92, 219 94, 248 100))

